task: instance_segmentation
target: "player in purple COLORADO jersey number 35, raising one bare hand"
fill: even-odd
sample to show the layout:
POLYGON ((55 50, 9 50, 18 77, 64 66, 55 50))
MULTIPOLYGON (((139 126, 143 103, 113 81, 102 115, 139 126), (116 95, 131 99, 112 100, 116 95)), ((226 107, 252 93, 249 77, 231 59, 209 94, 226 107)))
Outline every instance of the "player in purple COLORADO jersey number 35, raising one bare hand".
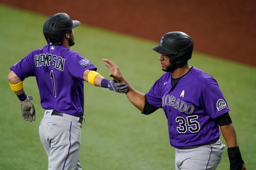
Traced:
POLYGON ((217 81, 187 62, 193 52, 192 39, 183 32, 168 32, 152 48, 161 54, 160 64, 166 73, 146 94, 136 91, 112 61, 103 61, 112 71, 111 77, 130 87, 126 95, 143 114, 164 110, 170 144, 176 148, 176 170, 216 169, 225 147, 219 139, 221 132, 230 169, 245 170, 229 108, 217 81))

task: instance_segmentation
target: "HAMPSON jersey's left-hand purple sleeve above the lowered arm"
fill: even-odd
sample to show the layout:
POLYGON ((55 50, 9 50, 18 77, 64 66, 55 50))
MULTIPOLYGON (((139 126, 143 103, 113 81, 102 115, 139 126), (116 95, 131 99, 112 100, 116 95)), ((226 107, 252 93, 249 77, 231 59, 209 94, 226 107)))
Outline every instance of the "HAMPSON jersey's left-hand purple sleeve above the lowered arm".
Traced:
POLYGON ((33 70, 33 51, 22 60, 12 65, 10 69, 23 81, 25 78, 35 76, 33 70))

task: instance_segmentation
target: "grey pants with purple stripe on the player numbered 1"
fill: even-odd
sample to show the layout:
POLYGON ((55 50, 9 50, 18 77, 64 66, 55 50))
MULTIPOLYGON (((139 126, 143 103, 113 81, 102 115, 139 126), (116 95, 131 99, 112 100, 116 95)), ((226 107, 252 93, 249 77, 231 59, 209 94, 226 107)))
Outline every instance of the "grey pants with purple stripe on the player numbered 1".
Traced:
POLYGON ((82 127, 79 118, 52 112, 45 110, 39 125, 39 136, 48 155, 48 170, 82 170, 78 160, 82 127))

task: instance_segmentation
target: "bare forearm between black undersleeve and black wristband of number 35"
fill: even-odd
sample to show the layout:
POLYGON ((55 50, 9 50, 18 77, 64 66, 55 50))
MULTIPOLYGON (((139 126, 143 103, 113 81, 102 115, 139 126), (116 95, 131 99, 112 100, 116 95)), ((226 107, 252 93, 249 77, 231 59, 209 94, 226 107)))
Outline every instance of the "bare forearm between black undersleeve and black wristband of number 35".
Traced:
POLYGON ((237 147, 236 131, 233 124, 221 126, 221 133, 224 137, 227 147, 237 147))

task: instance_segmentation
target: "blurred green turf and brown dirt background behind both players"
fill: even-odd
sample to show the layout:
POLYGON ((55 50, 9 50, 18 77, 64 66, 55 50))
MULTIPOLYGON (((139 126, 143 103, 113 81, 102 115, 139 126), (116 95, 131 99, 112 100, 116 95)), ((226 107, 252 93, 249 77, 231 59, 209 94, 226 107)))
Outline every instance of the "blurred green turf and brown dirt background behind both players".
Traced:
MULTIPOLYGON (((82 23, 74 29, 72 50, 90 59, 109 79, 110 71, 102 59, 114 61, 141 93, 147 93, 163 74, 159 54, 151 47, 166 32, 187 33, 194 41, 189 63, 218 81, 246 167, 254 169, 255 5, 252 0, 0 0, 0 169, 47 169, 47 155, 38 135, 44 110, 35 78, 26 78, 24 85, 33 96, 37 117, 35 122, 25 122, 7 76, 11 65, 46 45, 43 24, 58 12, 82 23)), ((84 169, 175 169, 175 150, 169 144, 162 110, 142 115, 125 95, 88 83, 84 90, 86 123, 79 158, 84 169)), ((226 149, 217 169, 229 169, 226 149)))

